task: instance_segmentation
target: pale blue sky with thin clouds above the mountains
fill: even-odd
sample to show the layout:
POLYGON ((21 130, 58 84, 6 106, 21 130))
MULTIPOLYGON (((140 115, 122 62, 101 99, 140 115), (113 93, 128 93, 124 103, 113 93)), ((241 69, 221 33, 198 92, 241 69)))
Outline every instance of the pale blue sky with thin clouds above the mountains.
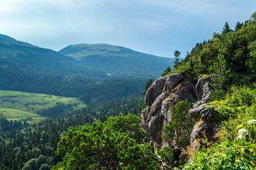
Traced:
POLYGON ((185 57, 228 22, 250 19, 255 0, 1 0, 0 33, 61 50, 108 43, 161 57, 185 57))

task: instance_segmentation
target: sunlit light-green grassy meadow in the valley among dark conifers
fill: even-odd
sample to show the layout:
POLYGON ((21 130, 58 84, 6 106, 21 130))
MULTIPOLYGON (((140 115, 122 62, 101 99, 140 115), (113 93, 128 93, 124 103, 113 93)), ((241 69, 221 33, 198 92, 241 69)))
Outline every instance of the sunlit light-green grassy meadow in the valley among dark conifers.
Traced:
MULTIPOLYGON (((86 107, 77 98, 0 90, 0 114, 9 120, 24 120, 27 117, 35 121, 41 120, 43 118, 38 115, 40 111, 47 111, 60 103, 68 108, 61 114, 86 107)), ((57 114, 60 115, 60 113, 57 114)))

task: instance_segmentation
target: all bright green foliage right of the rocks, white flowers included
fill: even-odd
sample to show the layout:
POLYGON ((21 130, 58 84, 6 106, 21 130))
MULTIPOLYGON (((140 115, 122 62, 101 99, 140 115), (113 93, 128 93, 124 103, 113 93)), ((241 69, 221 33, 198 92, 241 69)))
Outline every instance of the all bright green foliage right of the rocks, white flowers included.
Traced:
POLYGON ((232 86, 224 100, 214 101, 221 141, 199 149, 184 169, 256 168, 256 90, 252 86, 232 86))

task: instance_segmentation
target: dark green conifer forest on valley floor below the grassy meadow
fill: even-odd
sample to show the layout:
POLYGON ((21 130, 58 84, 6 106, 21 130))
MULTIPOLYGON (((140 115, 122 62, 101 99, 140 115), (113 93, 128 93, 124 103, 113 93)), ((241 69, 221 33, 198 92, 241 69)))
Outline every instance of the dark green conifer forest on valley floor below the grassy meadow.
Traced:
POLYGON ((1 119, 0 169, 50 169, 62 160, 55 151, 60 137, 79 125, 104 122, 110 116, 138 115, 143 98, 118 98, 35 125, 1 119))

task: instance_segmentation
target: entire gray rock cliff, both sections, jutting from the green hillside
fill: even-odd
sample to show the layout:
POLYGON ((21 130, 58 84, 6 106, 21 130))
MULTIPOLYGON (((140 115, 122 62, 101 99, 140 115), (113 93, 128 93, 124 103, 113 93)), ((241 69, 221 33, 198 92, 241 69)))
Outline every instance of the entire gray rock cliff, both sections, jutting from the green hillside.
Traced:
POLYGON ((207 105, 212 90, 211 76, 200 76, 196 84, 193 84, 187 74, 177 73, 161 77, 152 83, 145 94, 147 107, 141 113, 140 125, 152 137, 155 150, 167 145, 162 135, 165 125, 172 120, 170 108, 185 99, 190 102, 196 101, 189 111, 189 115, 196 123, 191 132, 191 147, 199 147, 201 143, 198 139, 201 138, 213 140, 218 122, 214 119, 217 112, 207 105))

